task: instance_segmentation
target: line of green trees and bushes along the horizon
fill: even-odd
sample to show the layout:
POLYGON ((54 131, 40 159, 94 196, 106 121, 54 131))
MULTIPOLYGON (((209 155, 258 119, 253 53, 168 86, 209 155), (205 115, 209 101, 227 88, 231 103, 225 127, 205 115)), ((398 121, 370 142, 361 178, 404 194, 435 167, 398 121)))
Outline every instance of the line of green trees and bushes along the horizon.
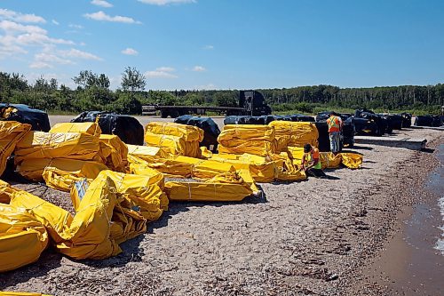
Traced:
MULTIPOLYGON (((235 107, 239 92, 230 91, 146 91, 147 80, 137 68, 127 67, 120 87, 110 90, 105 74, 83 70, 72 78, 75 89, 43 76, 29 84, 25 76, 0 72, 0 101, 26 104, 52 113, 80 113, 86 110, 141 114, 142 105, 215 105, 235 107)), ((444 84, 400 85, 372 88, 339 88, 331 85, 259 89, 274 111, 298 110, 312 113, 319 108, 379 108, 424 110, 438 113, 444 105, 444 84)))

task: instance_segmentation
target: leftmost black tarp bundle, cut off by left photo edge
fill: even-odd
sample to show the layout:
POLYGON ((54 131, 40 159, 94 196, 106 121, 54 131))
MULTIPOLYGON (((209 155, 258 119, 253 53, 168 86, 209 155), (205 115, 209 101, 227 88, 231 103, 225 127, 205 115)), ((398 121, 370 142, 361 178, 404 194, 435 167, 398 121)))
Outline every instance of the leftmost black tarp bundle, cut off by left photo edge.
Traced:
POLYGON ((51 129, 48 114, 42 110, 29 108, 23 104, 0 103, 0 120, 31 124, 33 131, 49 132, 51 129))

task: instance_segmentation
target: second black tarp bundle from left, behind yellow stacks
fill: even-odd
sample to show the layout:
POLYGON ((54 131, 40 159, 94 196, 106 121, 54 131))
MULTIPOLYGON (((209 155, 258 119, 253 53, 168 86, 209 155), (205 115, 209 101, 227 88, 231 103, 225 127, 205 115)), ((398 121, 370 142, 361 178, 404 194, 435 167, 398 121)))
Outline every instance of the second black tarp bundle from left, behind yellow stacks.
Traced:
POLYGON ((72 123, 93 123, 99 117, 99 126, 105 134, 115 134, 126 144, 143 145, 144 130, 134 117, 111 112, 85 111, 76 116, 72 123))

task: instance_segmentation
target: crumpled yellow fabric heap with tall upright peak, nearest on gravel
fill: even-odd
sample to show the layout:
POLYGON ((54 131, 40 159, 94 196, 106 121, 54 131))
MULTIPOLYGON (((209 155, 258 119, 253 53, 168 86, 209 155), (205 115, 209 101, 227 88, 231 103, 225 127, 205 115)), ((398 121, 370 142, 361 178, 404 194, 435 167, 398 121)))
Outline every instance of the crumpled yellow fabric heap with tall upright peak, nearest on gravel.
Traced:
POLYGON ((121 252, 118 244, 146 231, 147 220, 116 194, 106 174, 77 194, 81 201, 74 217, 22 190, 12 188, 10 197, 13 206, 27 209, 44 225, 59 252, 78 260, 113 256, 121 252))

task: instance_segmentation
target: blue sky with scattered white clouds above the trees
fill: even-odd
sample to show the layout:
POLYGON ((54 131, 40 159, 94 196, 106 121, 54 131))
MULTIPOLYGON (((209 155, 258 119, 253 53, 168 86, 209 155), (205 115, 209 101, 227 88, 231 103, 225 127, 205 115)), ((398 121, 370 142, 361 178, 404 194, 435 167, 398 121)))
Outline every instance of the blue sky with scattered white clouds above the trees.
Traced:
POLYGON ((444 82, 440 0, 2 0, 0 71, 112 88, 364 87, 444 82))

